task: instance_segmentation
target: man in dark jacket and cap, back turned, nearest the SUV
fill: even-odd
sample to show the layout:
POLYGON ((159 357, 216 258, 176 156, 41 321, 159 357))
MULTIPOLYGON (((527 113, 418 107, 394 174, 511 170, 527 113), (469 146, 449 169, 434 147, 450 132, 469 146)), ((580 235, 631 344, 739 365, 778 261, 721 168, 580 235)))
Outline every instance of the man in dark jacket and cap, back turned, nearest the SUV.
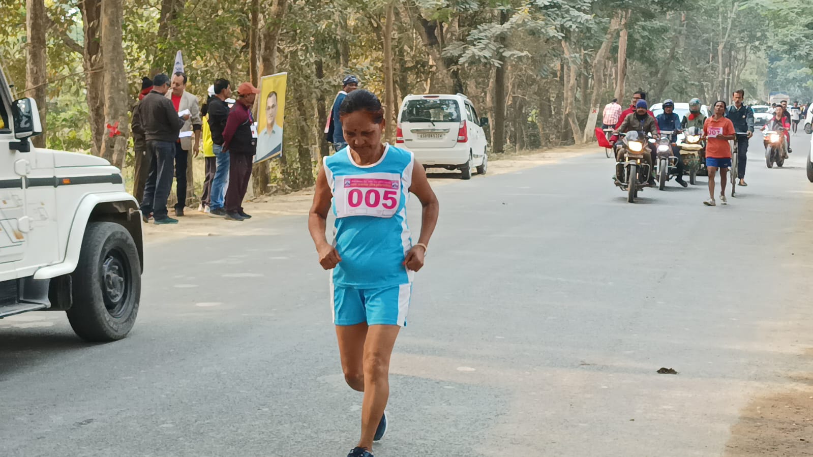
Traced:
POLYGON ((164 74, 155 76, 153 89, 141 100, 139 107, 147 151, 152 160, 141 200, 141 215, 147 222, 151 213, 155 224, 178 223, 177 219, 167 215, 167 198, 172 189, 175 143, 180 128, 189 119, 189 115, 178 117, 172 101, 166 98, 168 89, 169 77, 164 74))

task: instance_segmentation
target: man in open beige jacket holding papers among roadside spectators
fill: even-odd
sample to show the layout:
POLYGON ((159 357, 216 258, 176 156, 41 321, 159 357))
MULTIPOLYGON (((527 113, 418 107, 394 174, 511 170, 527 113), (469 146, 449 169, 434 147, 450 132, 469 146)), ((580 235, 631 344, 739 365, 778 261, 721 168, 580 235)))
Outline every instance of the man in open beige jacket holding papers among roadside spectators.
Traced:
POLYGON ((189 155, 198 157, 198 152, 201 147, 203 124, 198 98, 186 92, 186 81, 186 74, 184 72, 176 72, 172 75, 172 92, 167 93, 167 99, 172 100, 172 106, 175 107, 176 112, 180 113, 189 110, 189 120, 180 128, 180 135, 182 137, 176 139, 175 146, 175 193, 178 197, 178 201, 175 204, 176 217, 182 217, 184 215, 187 187, 186 170, 189 168, 189 160, 191 159, 189 155), (188 132, 193 132, 193 134, 189 135, 188 132), (194 136, 194 144, 192 136, 194 136))

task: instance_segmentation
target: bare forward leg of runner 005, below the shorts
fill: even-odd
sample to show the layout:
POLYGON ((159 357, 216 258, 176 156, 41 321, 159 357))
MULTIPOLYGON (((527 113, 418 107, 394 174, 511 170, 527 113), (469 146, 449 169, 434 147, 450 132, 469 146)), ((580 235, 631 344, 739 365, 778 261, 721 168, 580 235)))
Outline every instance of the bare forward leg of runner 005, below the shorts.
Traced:
POLYGON ((359 447, 372 451, 372 439, 389 399, 389 358, 401 327, 371 325, 364 342, 364 401, 359 447))

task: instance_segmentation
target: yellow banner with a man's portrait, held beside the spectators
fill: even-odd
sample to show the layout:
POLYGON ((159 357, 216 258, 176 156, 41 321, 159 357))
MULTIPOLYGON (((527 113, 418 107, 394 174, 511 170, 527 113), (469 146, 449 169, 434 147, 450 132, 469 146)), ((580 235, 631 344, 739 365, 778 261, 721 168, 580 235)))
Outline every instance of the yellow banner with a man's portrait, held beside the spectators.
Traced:
POLYGON ((285 120, 285 86, 288 73, 263 76, 259 83, 257 107, 257 154, 254 163, 282 155, 282 127, 285 120))

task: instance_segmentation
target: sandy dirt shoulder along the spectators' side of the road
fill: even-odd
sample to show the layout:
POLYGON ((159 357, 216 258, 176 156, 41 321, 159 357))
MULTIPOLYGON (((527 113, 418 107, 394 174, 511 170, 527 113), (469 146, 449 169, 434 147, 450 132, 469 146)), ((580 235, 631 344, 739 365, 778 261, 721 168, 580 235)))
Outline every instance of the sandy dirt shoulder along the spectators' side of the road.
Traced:
MULTIPOLYGON (((523 154, 506 154, 498 158, 491 157, 489 158, 488 175, 475 175, 472 180, 487 179, 491 175, 519 172, 527 168, 557 163, 563 159, 587 154, 603 155, 604 151, 591 143, 585 146, 535 150, 523 154)), ((437 169, 434 169, 434 171, 437 171, 437 169)), ((433 172, 432 168, 429 169, 429 181, 432 182, 433 187, 454 185, 460 182, 459 177, 455 176, 454 172, 436 173, 433 172)), ((247 201, 244 204, 246 212, 253 216, 252 220, 242 223, 210 217, 198 212, 197 208, 186 208, 185 216, 180 218, 180 223, 177 225, 144 224, 144 239, 147 243, 151 243, 166 242, 180 237, 216 237, 237 233, 240 235, 260 235, 267 233, 267 230, 259 228, 258 224, 251 224, 252 222, 279 215, 307 215, 312 200, 313 188, 302 189, 292 194, 255 198, 253 201, 247 201), (240 230, 235 231, 233 224, 241 224, 240 230)))

